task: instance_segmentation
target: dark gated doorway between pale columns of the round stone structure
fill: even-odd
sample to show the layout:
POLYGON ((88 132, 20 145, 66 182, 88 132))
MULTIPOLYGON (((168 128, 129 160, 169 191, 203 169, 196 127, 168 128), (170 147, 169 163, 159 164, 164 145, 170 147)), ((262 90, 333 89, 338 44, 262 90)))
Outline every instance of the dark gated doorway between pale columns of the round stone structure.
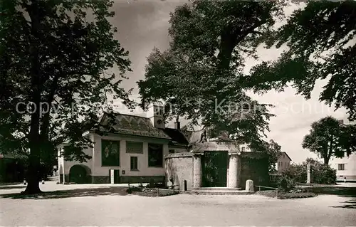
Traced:
POLYGON ((228 152, 204 152, 201 160, 204 187, 226 187, 228 159, 228 152))

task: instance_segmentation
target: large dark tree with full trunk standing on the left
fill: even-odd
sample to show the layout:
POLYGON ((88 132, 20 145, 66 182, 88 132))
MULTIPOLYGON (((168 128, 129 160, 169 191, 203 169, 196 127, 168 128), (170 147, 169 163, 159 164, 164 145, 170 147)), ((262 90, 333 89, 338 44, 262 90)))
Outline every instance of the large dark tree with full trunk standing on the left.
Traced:
POLYGON ((112 2, 5 0, 0 14, 2 149, 28 157, 24 193, 39 193, 40 163, 68 140, 66 159, 85 162, 82 137, 95 127, 105 95, 131 104, 119 87, 130 60, 108 21, 112 2), (116 67, 120 75, 105 70, 116 67))

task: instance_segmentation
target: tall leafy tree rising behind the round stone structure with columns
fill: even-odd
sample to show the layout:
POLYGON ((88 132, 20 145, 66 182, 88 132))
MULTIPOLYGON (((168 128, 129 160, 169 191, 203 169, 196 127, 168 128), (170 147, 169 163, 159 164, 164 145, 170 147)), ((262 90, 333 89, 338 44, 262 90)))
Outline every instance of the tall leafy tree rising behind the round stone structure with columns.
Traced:
POLYGON ((254 56, 282 8, 280 1, 201 0, 177 7, 169 21, 169 49, 154 49, 138 83, 142 107, 163 100, 171 107, 168 116, 266 147, 261 137, 272 116, 268 105, 252 100, 237 81, 245 76, 244 58, 254 56))

